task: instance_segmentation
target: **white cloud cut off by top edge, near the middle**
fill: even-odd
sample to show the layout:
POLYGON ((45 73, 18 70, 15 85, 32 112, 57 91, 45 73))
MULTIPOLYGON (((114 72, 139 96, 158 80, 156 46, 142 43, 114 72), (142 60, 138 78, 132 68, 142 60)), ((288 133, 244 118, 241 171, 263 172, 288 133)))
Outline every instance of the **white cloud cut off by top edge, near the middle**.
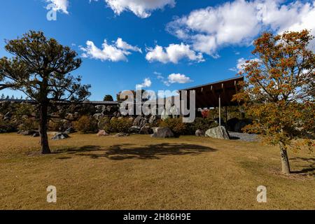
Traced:
POLYGON ((107 5, 117 14, 130 10, 139 18, 148 18, 153 10, 175 6, 175 0, 105 0, 107 5))

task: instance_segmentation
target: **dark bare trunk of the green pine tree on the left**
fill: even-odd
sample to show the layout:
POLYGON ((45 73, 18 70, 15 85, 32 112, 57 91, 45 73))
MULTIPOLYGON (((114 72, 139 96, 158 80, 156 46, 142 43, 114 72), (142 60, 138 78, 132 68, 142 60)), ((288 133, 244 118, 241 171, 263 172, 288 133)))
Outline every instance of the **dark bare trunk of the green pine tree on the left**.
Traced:
POLYGON ((50 154, 50 148, 48 144, 48 135, 47 135, 47 118, 48 113, 48 104, 41 104, 40 106, 40 122, 39 122, 39 134, 41 135, 41 153, 50 154))

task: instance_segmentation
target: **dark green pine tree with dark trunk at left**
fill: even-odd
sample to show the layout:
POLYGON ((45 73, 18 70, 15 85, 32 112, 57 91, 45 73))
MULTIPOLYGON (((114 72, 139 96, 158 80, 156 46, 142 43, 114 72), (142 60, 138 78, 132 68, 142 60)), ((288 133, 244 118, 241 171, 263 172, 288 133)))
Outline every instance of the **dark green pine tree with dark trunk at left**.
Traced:
POLYGON ((81 59, 41 31, 29 31, 21 38, 6 41, 5 48, 13 57, 0 59, 0 90, 20 90, 38 103, 41 153, 50 153, 48 107, 56 102, 80 102, 90 95, 90 85, 81 85, 80 76, 70 74, 80 67, 81 59))

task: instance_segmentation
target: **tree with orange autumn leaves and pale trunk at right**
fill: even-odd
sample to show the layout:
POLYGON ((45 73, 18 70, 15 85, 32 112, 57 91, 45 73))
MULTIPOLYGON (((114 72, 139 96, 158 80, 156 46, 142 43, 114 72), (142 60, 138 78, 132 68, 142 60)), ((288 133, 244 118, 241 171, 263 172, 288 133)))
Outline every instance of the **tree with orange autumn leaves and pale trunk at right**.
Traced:
POLYGON ((235 100, 244 102, 246 113, 255 118, 247 132, 261 134, 279 146, 283 174, 290 173, 288 148, 314 147, 315 55, 309 49, 309 31, 262 34, 254 41, 253 55, 240 75, 244 88, 235 100))

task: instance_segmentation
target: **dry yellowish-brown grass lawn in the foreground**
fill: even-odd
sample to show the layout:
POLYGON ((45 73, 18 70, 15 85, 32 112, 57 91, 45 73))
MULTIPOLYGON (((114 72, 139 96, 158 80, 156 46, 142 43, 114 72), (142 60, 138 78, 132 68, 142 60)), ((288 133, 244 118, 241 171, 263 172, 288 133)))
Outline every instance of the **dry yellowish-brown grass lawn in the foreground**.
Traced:
POLYGON ((97 137, 50 141, 0 134, 0 209, 315 209, 315 157, 258 143, 203 137, 97 137), (56 186, 57 203, 46 202, 56 186), (267 203, 258 203, 258 186, 267 203))

